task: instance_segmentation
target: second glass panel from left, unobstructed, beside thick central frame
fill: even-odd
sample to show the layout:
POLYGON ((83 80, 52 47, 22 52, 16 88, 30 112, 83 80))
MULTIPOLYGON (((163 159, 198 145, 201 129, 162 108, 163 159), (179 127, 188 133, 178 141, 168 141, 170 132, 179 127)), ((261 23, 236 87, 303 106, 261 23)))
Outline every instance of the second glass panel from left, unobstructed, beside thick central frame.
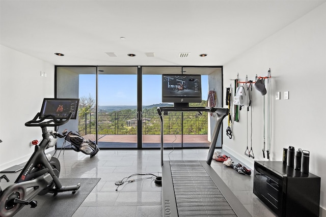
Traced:
POLYGON ((137 148, 137 67, 98 67, 100 148, 137 148))

